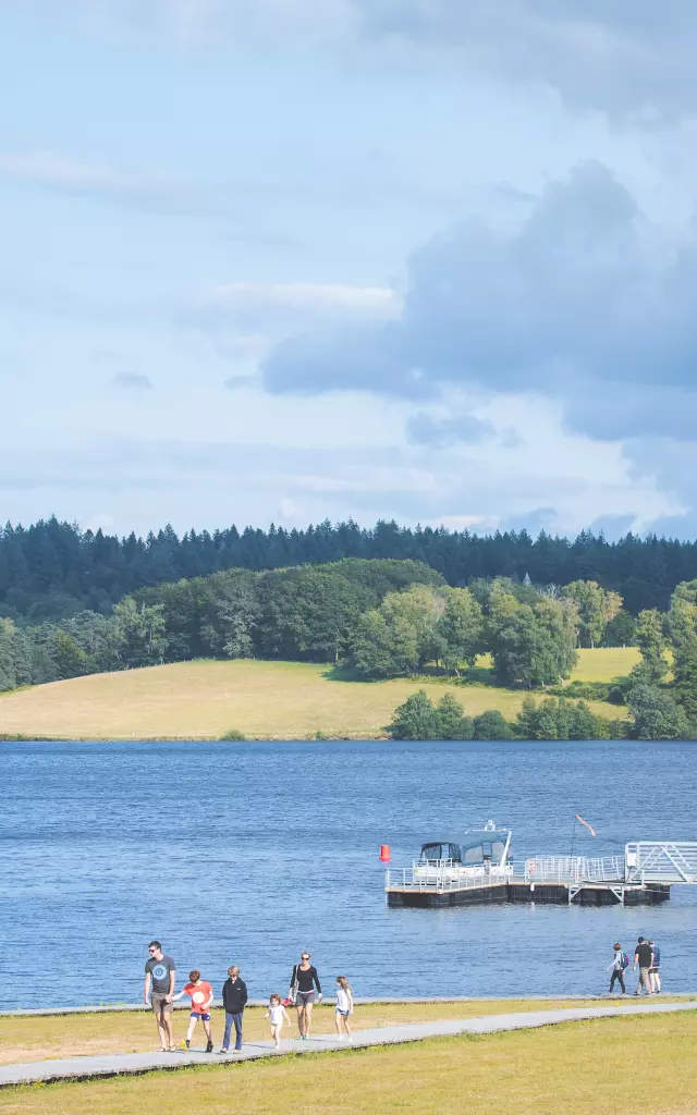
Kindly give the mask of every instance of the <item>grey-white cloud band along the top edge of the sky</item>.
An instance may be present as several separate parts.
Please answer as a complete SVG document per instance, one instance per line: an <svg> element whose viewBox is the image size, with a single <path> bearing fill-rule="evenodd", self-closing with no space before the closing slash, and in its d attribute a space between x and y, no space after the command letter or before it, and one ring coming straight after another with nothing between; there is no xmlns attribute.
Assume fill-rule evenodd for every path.
<svg viewBox="0 0 697 1115"><path fill-rule="evenodd" d="M75 2L75 0L74 0ZM94 0L77 0L90 11ZM689 115L697 108L694 0L100 0L105 26L183 48L250 38L287 45L408 48L456 72L546 86L573 106L613 115Z"/></svg>

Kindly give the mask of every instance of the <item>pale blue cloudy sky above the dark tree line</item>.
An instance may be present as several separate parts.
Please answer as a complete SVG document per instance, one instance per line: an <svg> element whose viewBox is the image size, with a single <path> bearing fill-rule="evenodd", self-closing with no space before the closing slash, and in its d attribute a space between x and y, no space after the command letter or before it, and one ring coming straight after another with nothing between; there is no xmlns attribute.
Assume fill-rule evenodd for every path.
<svg viewBox="0 0 697 1115"><path fill-rule="evenodd" d="M0 520L697 535L694 0L0 0Z"/></svg>

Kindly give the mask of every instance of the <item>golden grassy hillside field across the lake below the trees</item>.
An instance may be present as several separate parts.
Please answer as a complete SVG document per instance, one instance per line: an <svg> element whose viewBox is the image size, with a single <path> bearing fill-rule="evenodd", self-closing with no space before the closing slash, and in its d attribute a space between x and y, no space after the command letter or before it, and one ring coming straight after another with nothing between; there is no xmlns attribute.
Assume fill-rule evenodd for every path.
<svg viewBox="0 0 697 1115"><path fill-rule="evenodd" d="M639 652L582 650L574 679L609 681L628 673ZM327 666L300 662L196 661L54 681L0 696L0 735L51 739L217 739L238 729L256 739L374 737L415 689L439 699L454 692L471 716L487 708L512 719L525 694L482 682L352 681ZM602 716L621 709L589 702Z"/></svg>

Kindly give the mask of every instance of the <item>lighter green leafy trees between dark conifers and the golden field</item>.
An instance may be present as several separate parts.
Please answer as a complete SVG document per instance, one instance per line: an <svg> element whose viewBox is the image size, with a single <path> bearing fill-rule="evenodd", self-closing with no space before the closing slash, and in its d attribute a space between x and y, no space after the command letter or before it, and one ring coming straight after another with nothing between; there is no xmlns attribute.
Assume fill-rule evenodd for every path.
<svg viewBox="0 0 697 1115"><path fill-rule="evenodd" d="M608 643L639 647L632 673L613 685L564 688L577 649ZM689 735L697 724L697 580L678 584L665 612L643 609L635 618L618 592L591 580L560 586L535 585L529 575L475 578L457 588L423 562L357 558L233 569L141 588L109 614L83 609L35 624L1 619L0 691L197 658L326 662L347 678L435 672L466 681L482 655L491 657L497 686L548 691L535 712L545 730L552 714L554 730L577 730L572 697L627 705L647 738ZM534 733L533 711L526 729ZM452 723L451 709L448 730Z"/></svg>

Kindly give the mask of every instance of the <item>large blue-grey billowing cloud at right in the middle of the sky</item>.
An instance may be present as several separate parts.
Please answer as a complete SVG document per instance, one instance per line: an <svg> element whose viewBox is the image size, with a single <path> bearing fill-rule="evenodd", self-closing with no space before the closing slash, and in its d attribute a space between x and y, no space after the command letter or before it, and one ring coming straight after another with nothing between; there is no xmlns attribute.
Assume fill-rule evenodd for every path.
<svg viewBox="0 0 697 1115"><path fill-rule="evenodd" d="M274 392L539 392L591 435L650 421L691 437L696 292L694 232L651 226L604 165L584 163L520 226L469 222L417 250L398 320L288 340L262 377Z"/></svg>

